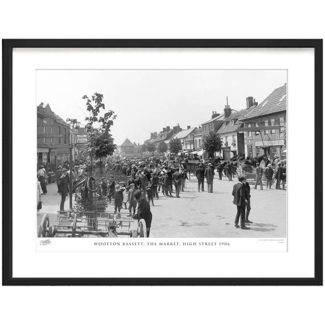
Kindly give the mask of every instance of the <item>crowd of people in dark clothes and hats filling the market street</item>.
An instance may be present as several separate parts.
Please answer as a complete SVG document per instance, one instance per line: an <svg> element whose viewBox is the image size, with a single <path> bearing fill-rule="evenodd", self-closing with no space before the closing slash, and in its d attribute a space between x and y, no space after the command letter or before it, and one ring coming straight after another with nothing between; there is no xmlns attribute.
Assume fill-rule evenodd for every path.
<svg viewBox="0 0 325 325"><path fill-rule="evenodd" d="M182 160L188 161L189 157L182 157ZM263 179L265 177L267 188L271 189L272 183L276 180L276 189L282 188L286 182L286 162L276 161L275 170L271 164L263 169L259 163L255 168L255 189L259 184L263 189ZM222 166L220 161L209 158L204 163L198 159L196 177L198 182L198 191L205 190L205 181L207 192L213 193L213 181L215 170L218 173L219 180L222 180L222 172L232 181L234 167L230 162ZM107 198L111 203L114 200L114 212L120 213L121 209L126 209L135 218L144 218L147 225L147 235L150 233L152 214L150 206L154 206L154 201L159 200L159 196L164 198L180 198L180 193L186 188L188 179L187 171L183 168L181 159L179 161L169 161L161 157L134 157L118 158L109 157L101 168L105 169L105 177L102 177L100 183L100 195ZM89 164L76 161L73 164L72 173L70 166L66 161L62 166L57 167L55 174L57 192L61 195L60 210L64 211L64 202L69 194L70 178L72 182L78 182L89 174ZM124 175L126 181L115 180L114 172ZM70 173L72 175L70 175ZM46 194L46 170L40 166L38 172L38 208L41 202L41 194ZM237 205L237 214L235 226L241 229L248 229L245 223L251 223L248 219L250 211L250 186L245 175L238 177L239 183L234 185L233 203ZM173 195L174 194L174 195ZM241 218L240 226L239 218Z"/></svg>

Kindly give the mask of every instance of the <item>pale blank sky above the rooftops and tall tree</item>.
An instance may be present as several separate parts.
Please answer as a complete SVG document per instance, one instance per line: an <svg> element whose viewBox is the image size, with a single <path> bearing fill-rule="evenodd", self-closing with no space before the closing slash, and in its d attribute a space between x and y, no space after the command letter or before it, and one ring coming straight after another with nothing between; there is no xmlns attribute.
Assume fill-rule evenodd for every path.
<svg viewBox="0 0 325 325"><path fill-rule="evenodd" d="M115 144L125 138L142 144L166 126L199 127L212 111L223 113L226 96L241 110L246 97L261 103L286 82L286 70L38 70L36 97L63 120L85 124L82 96L102 93L106 110L117 115Z"/></svg>

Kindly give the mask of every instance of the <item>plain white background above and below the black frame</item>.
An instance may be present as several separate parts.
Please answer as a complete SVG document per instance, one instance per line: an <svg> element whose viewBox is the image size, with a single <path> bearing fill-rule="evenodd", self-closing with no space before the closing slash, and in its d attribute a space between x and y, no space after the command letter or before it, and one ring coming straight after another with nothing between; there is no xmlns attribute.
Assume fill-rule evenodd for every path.
<svg viewBox="0 0 325 325"><path fill-rule="evenodd" d="M34 4L2 6L2 38L324 37L323 10L316 1ZM323 300L323 287L5 287L0 306L5 323L283 324L321 321Z"/></svg>

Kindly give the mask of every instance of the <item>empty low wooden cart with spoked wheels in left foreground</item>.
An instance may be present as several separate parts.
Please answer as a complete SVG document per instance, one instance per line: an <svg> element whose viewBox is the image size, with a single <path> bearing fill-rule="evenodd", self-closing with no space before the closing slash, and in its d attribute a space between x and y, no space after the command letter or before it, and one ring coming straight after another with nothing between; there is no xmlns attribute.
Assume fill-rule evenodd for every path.
<svg viewBox="0 0 325 325"><path fill-rule="evenodd" d="M57 223L48 214L40 223L38 237L147 237L146 222L131 213L58 211Z"/></svg>

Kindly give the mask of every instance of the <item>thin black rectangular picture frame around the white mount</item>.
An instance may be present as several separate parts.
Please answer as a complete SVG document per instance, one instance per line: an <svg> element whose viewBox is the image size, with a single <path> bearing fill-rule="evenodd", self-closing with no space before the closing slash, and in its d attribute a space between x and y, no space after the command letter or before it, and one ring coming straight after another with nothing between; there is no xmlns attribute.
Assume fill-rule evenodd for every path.
<svg viewBox="0 0 325 325"><path fill-rule="evenodd" d="M3 285L322 285L322 169L316 156L314 277L311 278L13 278L12 51L13 48L313 48L315 148L322 155L322 40L320 39L14 39L3 40ZM316 152L316 151L315 151ZM6 158L4 158L6 157Z"/></svg>

